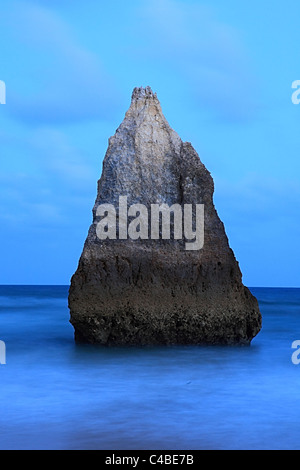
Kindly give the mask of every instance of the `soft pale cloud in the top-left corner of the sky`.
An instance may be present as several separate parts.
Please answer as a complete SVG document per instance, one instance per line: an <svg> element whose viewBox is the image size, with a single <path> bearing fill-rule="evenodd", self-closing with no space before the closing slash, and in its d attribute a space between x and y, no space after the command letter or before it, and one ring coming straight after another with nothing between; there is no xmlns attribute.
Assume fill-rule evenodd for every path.
<svg viewBox="0 0 300 470"><path fill-rule="evenodd" d="M50 8L13 6L4 14L23 54L11 61L14 73L23 74L22 89L10 90L13 116L39 123L107 118L117 106L117 91L101 58Z"/></svg>

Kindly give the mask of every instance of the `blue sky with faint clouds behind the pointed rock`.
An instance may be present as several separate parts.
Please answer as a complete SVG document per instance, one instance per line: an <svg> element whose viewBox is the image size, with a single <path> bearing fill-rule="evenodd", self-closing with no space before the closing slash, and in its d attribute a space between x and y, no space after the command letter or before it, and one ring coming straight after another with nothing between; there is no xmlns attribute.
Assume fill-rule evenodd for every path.
<svg viewBox="0 0 300 470"><path fill-rule="evenodd" d="M215 181L248 286L299 287L292 1L1 0L1 284L69 284L135 86Z"/></svg>

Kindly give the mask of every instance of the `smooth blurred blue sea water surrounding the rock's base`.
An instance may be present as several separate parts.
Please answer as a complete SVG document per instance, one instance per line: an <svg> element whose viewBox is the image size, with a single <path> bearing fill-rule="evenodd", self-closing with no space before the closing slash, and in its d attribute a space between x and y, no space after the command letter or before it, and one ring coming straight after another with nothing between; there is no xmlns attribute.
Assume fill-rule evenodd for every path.
<svg viewBox="0 0 300 470"><path fill-rule="evenodd" d="M300 449L300 289L250 347L76 345L68 286L0 286L0 449Z"/></svg>

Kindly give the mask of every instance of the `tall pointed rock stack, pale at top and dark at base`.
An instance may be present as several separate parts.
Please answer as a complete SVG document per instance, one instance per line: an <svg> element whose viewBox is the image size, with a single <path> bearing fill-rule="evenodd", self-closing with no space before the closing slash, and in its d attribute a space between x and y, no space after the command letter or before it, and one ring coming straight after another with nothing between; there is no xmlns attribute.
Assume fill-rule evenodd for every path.
<svg viewBox="0 0 300 470"><path fill-rule="evenodd" d="M249 344L260 331L258 303L243 285L213 204L212 177L182 142L149 87L135 88L109 146L93 223L69 291L75 340L106 345ZM100 240L97 208L204 204L204 245L127 238ZM118 218L117 210L117 218ZM129 217L130 221L130 217ZM149 215L150 227L150 215ZM171 230L172 233L172 230Z"/></svg>

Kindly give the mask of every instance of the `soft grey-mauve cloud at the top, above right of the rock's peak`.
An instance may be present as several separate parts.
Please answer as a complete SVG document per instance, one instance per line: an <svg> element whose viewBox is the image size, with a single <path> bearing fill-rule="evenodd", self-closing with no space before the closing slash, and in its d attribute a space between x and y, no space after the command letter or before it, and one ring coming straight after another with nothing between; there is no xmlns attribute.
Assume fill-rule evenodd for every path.
<svg viewBox="0 0 300 470"><path fill-rule="evenodd" d="M198 106L225 120L256 114L258 84L240 31L212 8L183 1L147 2L141 18L152 37L151 47L145 41L145 55L182 76Z"/></svg>

